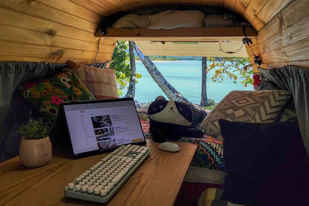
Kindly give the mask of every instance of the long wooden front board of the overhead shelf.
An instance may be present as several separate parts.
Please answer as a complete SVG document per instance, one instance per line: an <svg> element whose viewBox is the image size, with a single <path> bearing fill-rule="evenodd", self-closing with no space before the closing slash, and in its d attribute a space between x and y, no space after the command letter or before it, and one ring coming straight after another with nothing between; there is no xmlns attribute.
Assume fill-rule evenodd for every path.
<svg viewBox="0 0 309 206"><path fill-rule="evenodd" d="M245 28L249 38L256 37L257 32L252 27ZM130 41L211 41L211 40L239 40L245 35L243 27L216 27L216 28L177 28L177 29L107 29L106 34L95 34L96 37L105 37L116 40Z"/></svg>

